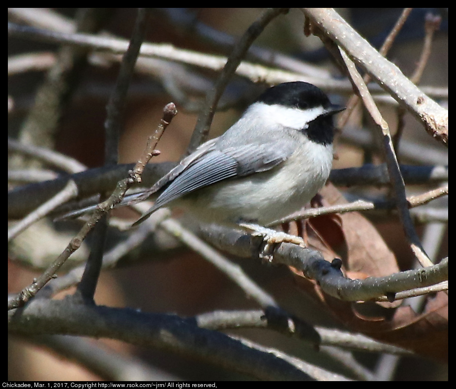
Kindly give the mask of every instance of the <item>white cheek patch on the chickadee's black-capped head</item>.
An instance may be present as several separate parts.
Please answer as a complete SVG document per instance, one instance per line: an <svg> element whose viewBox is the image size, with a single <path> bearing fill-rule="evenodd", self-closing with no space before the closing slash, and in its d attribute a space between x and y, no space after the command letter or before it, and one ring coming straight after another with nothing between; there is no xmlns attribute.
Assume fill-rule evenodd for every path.
<svg viewBox="0 0 456 389"><path fill-rule="evenodd" d="M267 120L270 124L281 124L297 130L307 128L307 124L315 120L326 110L322 106L301 110L274 104L267 105L257 102L249 108L249 113Z"/></svg>

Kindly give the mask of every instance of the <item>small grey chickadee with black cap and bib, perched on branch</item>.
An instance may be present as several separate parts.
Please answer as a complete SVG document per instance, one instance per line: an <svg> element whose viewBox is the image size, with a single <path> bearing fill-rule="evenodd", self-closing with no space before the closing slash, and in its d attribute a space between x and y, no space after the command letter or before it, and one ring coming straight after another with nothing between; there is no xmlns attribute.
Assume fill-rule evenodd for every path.
<svg viewBox="0 0 456 389"><path fill-rule="evenodd" d="M199 221L267 226L301 209L321 189L333 161L332 104L314 85L289 82L266 90L223 135L183 158L151 189L121 204L185 209Z"/></svg>

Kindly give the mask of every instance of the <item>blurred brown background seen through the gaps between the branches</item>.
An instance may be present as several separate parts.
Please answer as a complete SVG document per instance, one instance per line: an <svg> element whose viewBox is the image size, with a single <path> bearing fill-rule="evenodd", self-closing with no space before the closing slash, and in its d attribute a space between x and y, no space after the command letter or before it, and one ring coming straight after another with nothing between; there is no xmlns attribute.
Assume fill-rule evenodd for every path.
<svg viewBox="0 0 456 389"><path fill-rule="evenodd" d="M261 8L153 8L150 11L145 41L169 43L180 49L227 56L232 42L243 34L261 10ZM29 9L29 14L26 14L21 9L9 9L8 20L42 29L52 29L52 22L45 18L46 15L51 15L61 21L60 28L64 30L70 29L79 11L76 8L40 8ZM338 8L337 11L378 48L394 26L402 8ZM424 20L429 12L440 15L442 23L440 30L433 37L432 54L426 64L420 85L446 88L448 86L447 8L415 8L396 38L388 58L399 66L405 75L413 74L422 52L425 37ZM101 30L129 39L136 14L135 8L111 9L106 13ZM280 66L296 72L302 71L300 64L305 62L314 69L315 74L321 72L323 75L329 74L335 78L342 78L330 55L322 47L321 41L315 36L305 37L303 26L304 16L297 9L291 9L286 15L280 15L254 42L255 48L251 50L252 53L246 60L268 67ZM43 55L41 65L33 70L11 72L9 69L8 137L18 137L30 107L34 103L36 90L42 85L46 71L53 63L53 55L58 50L57 44L16 37L8 38L9 59L26 53L48 55L48 58ZM268 61L271 56L269 58L265 56L263 59L258 57L259 53L264 54L264 52L279 53L286 56L286 60L278 59L278 63L271 64ZM102 56L90 56L89 63L78 75L74 90L71 91L71 98L59 120L55 149L79 160L89 168L103 164L106 104L118 70L118 60L103 60ZM161 138L158 145L161 154L153 162L178 161L188 146L199 107L216 75L217 72L207 68L158 59L143 63L141 69L138 67L129 88L124 129L121 135L120 162L137 160L138 155L144 150L147 137L161 118L164 105L170 101L176 103L179 113ZM215 114L210 137L223 133L239 118L246 105L265 87L264 83L254 84L245 77L234 76L220 101L219 106L222 110ZM348 93L333 92L331 100L343 104L348 97ZM438 98L436 100L439 101ZM439 102L445 104L443 101ZM389 121L390 128L395 129L396 108L388 104L381 108L382 114ZM448 150L433 141L414 118L406 114L404 123L401 147L403 146L405 150L402 154L399 152L401 163L448 164ZM354 120L348 127L354 128L360 125L368 131L370 124ZM338 137L336 153L338 159L334 160L335 169L381 161L378 150L364 147L363 142L353 135L353 131L348 131L346 134L344 131ZM10 166L8 166L9 169ZM422 189L421 187L408 188L411 193ZM359 188L352 190L360 191ZM366 195L374 196L377 191L383 189L363 190L366 191ZM346 193L349 195L350 190L347 189ZM388 218L378 218L374 221L378 231L400 261L399 266L403 269L409 268L413 257L405 239L397 239L398 234L402 234L400 224L396 219L392 221ZM441 244L435 253L436 258L448 255L447 227L444 223L439 225L443 233L441 232L438 238ZM43 228L40 225L34 230L34 234L43 232ZM423 234L423 227L419 227L419 231ZM19 236L16 239L13 243L14 247L10 247L9 252L8 293L21 290L33 277L40 274L46 261L54 260L53 255L58 255L68 242L66 237L70 237L69 232L68 235L66 231L61 234L61 239L52 244L45 243L45 240L41 240L44 239L41 236L36 238L41 240L41 245L34 245L32 250L33 256L42 261L39 266L37 263L27 263L26 246L30 238L20 240L21 236ZM114 235L115 238L112 238L113 241L108 242L108 245L114 244L114 239L118 239L118 235ZM49 250L50 245L53 246L52 254ZM81 256L83 255L84 252ZM260 261L236 258L233 258L233 261L241 265L249 276L262 285L288 311L313 324L338 326L328 313L296 289L288 269L264 266ZM66 291L66 293L72 292L73 289ZM59 298L63 296L64 293L59 295ZM95 302L115 307L128 306L148 312L176 313L181 316L192 316L217 309L258 307L223 273L198 255L179 247L173 250L172 255L166 253L151 255L147 258L139 258L134 265L103 271ZM337 363L308 345L303 346L295 339L276 332L242 329L233 333L266 346L278 347L298 358L320 364L335 372L346 373ZM89 339L89 341L101 345L102 348L115 350L125 358L141 361L147 369L156 374L156 380L251 379L212 365L179 357L173 353L135 347L114 340ZM37 340L9 337L8 379L19 381L104 379L73 361L70 355L65 356L65 353L56 350L57 348L43 346ZM373 368L378 361L378 356L370 354L360 354L357 358L370 368ZM396 367L394 379L397 381L446 380L447 366L424 359L402 358Z"/></svg>

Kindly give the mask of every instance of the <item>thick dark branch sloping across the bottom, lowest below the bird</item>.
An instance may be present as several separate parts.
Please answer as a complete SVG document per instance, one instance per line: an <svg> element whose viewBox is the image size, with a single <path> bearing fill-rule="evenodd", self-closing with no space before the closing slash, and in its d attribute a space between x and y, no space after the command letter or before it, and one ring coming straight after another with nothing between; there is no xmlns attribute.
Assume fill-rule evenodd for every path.
<svg viewBox="0 0 456 389"><path fill-rule="evenodd" d="M259 350L221 332L200 329L192 318L172 314L35 299L21 315L11 312L8 322L9 331L16 333L106 337L171 350L261 380L310 379L296 363L271 350Z"/></svg>

